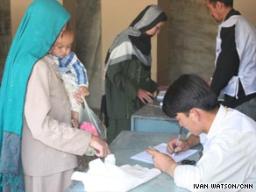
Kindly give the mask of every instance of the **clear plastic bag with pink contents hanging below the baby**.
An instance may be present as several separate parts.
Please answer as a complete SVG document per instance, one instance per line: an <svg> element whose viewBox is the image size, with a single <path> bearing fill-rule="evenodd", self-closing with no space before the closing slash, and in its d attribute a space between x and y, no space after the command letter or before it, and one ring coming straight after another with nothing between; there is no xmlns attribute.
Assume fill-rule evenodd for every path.
<svg viewBox="0 0 256 192"><path fill-rule="evenodd" d="M98 136L99 138L106 140L107 139L107 128L103 122L97 117L95 112L89 108L88 103L84 98L83 108L79 111L79 123L80 128L91 132L92 134Z"/></svg>

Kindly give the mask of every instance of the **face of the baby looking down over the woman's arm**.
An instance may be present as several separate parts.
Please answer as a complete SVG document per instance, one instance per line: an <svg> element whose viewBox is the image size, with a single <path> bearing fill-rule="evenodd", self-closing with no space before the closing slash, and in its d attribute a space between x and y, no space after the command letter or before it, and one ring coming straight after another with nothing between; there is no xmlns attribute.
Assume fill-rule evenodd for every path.
<svg viewBox="0 0 256 192"><path fill-rule="evenodd" d="M53 55L63 58L71 52L71 45L74 37L69 33L64 33L63 37L59 37L53 46Z"/></svg>

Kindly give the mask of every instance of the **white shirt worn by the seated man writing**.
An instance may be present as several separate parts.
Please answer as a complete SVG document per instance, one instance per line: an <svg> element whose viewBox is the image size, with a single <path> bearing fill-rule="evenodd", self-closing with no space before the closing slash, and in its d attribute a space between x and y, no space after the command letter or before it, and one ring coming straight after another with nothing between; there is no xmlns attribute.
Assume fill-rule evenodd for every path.
<svg viewBox="0 0 256 192"><path fill-rule="evenodd" d="M204 141L203 156L196 166L175 168L177 186L214 191L197 190L194 184L250 183L252 190L228 191L256 191L256 123L251 118L221 106Z"/></svg>

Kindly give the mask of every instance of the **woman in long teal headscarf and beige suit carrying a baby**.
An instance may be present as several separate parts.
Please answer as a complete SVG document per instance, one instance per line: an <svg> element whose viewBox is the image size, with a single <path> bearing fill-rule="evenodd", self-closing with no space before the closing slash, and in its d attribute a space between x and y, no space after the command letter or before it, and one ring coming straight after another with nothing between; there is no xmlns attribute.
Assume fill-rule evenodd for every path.
<svg viewBox="0 0 256 192"><path fill-rule="evenodd" d="M0 89L0 191L64 191L88 146L108 145L71 126L68 94L47 54L70 16L56 0L34 0L13 39ZM79 100L80 93L76 93Z"/></svg>

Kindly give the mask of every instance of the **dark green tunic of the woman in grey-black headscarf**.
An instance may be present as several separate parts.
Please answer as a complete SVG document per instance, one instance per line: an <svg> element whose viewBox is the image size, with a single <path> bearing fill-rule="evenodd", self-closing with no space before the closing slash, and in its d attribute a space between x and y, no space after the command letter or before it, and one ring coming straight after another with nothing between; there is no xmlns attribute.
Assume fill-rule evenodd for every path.
<svg viewBox="0 0 256 192"><path fill-rule="evenodd" d="M137 96L138 89L153 93L157 83L150 77L151 70L139 60L124 60L110 65L106 73L105 93L109 116L108 142L122 130L131 129L131 115L143 103Z"/></svg>

